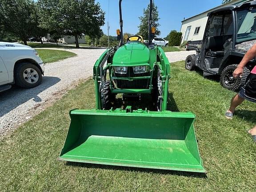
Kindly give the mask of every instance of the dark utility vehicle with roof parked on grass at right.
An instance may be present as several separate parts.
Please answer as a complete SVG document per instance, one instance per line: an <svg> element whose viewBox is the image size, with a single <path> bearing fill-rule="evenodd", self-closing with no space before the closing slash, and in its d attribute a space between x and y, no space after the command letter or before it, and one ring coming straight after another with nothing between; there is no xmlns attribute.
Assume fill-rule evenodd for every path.
<svg viewBox="0 0 256 192"><path fill-rule="evenodd" d="M231 5L208 13L208 22L196 55L186 58L185 68L200 68L204 76L219 75L220 84L238 91L256 61L251 60L241 77L232 75L244 54L256 43L256 1ZM192 43L191 43L192 44ZM191 50L193 45L188 44Z"/></svg>

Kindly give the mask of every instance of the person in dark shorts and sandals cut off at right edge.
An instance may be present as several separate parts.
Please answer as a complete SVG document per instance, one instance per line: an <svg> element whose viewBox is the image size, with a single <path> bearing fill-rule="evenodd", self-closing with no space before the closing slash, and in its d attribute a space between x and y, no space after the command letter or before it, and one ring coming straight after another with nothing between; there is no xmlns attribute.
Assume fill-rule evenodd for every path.
<svg viewBox="0 0 256 192"><path fill-rule="evenodd" d="M256 44L244 55L240 64L237 66L236 70L233 72L234 78L242 76L244 66L256 56ZM230 107L225 113L227 119L232 119L236 107L243 103L244 100L249 100L256 103L256 66L252 69L250 75L248 76L247 84L240 89L240 92L236 94L231 100ZM256 118L256 117L255 117ZM252 136L254 142L256 142L256 126L248 131Z"/></svg>

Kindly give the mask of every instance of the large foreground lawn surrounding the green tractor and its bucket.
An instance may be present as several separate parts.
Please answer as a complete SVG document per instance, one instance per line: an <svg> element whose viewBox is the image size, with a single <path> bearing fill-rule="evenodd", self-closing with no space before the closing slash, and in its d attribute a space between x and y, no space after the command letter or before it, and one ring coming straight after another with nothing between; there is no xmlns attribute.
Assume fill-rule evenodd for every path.
<svg viewBox="0 0 256 192"><path fill-rule="evenodd" d="M57 161L70 123L69 110L95 107L94 84L88 80L0 141L1 191L255 191L256 144L247 134L256 124L255 104L244 102L235 118L226 120L224 112L234 92L186 71L184 62L172 64L171 70L168 109L196 114L207 176Z"/></svg>

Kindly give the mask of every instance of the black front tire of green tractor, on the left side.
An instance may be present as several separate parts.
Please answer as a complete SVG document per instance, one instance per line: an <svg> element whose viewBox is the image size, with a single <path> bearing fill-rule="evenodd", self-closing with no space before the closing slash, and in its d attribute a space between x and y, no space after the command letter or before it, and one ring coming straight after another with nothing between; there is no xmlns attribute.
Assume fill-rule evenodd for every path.
<svg viewBox="0 0 256 192"><path fill-rule="evenodd" d="M101 102L103 109L110 109L112 107L112 103L116 100L116 95L111 93L110 82L107 81L101 90Z"/></svg>

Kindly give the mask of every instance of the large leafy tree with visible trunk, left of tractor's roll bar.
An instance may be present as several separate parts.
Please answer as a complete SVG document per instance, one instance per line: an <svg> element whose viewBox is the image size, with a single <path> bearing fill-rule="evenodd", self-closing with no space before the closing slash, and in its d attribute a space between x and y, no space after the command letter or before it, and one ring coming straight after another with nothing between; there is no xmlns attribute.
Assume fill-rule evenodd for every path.
<svg viewBox="0 0 256 192"><path fill-rule="evenodd" d="M105 13L95 0L39 0L41 26L49 31L60 30L61 35L78 37L82 34L91 38L102 34Z"/></svg>

